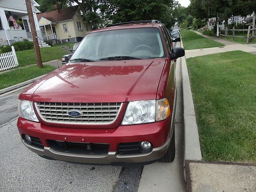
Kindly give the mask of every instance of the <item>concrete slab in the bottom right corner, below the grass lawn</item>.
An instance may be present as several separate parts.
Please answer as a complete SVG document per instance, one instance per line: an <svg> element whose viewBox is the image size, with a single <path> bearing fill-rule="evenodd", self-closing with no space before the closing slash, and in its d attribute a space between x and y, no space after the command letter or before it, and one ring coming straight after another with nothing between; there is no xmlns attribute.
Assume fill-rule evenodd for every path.
<svg viewBox="0 0 256 192"><path fill-rule="evenodd" d="M256 166L244 163L186 163L187 191L256 191Z"/></svg>

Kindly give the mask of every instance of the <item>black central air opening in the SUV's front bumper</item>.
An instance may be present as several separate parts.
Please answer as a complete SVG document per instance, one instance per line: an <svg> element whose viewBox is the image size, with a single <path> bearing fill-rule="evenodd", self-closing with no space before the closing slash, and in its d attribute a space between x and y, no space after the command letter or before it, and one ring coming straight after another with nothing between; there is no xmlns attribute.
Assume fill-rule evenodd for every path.
<svg viewBox="0 0 256 192"><path fill-rule="evenodd" d="M107 143L77 143L66 141L47 140L50 147L57 152L77 155L106 155L109 153Z"/></svg>

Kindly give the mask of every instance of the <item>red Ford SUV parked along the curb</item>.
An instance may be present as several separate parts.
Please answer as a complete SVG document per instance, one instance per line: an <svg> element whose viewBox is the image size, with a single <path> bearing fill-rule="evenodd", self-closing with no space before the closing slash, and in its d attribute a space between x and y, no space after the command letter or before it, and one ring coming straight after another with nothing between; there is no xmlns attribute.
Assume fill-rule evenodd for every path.
<svg viewBox="0 0 256 192"><path fill-rule="evenodd" d="M157 20L92 31L61 68L18 97L22 142L41 157L79 163L175 158L175 60Z"/></svg>

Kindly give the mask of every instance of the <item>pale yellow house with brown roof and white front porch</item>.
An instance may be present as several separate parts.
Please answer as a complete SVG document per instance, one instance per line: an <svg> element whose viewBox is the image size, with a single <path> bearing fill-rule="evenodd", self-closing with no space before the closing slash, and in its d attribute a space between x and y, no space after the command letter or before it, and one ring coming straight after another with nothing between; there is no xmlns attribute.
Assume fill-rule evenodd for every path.
<svg viewBox="0 0 256 192"><path fill-rule="evenodd" d="M91 26L84 23L79 6L57 9L52 12L37 14L41 36L44 40L58 42L77 42L91 31Z"/></svg>

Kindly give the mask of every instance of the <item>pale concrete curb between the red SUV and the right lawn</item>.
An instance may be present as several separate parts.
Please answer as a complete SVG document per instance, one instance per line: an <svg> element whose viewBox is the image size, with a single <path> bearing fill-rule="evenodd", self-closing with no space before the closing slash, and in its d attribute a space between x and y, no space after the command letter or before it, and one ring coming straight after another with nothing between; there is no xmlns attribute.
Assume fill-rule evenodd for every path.
<svg viewBox="0 0 256 192"><path fill-rule="evenodd" d="M181 47L183 42L181 40ZM202 160L201 147L185 57L181 58L184 121L184 161Z"/></svg>

